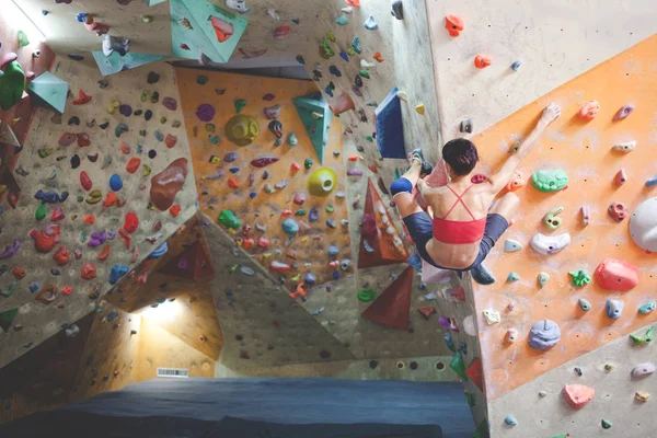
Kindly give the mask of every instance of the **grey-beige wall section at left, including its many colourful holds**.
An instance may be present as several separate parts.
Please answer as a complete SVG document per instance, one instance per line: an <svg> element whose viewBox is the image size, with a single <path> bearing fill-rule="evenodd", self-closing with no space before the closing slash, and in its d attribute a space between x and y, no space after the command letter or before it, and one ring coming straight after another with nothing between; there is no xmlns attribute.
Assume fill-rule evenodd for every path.
<svg viewBox="0 0 657 438"><path fill-rule="evenodd" d="M0 365L74 322L196 211L173 69L103 79L61 59L64 115L39 110L0 235Z"/></svg>

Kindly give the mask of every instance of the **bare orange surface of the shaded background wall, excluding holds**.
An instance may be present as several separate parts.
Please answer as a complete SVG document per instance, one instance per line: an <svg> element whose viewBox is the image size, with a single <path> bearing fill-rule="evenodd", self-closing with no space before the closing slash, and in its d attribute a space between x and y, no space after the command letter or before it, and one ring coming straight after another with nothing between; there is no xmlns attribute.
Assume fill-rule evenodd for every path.
<svg viewBox="0 0 657 438"><path fill-rule="evenodd" d="M199 76L205 76L208 81L205 84L198 83ZM337 260L351 258L348 228L341 224L343 219L348 219L346 199L336 196L338 192L346 192L346 158L342 154L342 131L341 124L336 117L333 117L328 141L324 151L324 168L331 168L337 175L335 189L327 197L313 197L307 191L309 175L322 168L316 158L310 138L297 114L292 99L308 93L316 92L316 85L311 81L274 79L253 77L244 74L233 74L223 72L210 72L193 69L176 69L176 77L183 111L185 114L185 127L189 139L189 149L194 160L194 172L196 174L196 184L199 195L200 209L212 219L217 219L221 210L232 210L242 226L253 227L251 238L255 241L264 237L269 241L267 249L261 249L254 245L246 250L254 254L256 260L268 269L270 262L278 261L288 265L297 264L298 269L292 269L287 274L286 286L295 290L297 284L302 281L303 274L311 272L316 276L316 284L321 285L333 280L333 273L339 272L341 276L347 274L342 269L334 269L327 266L331 258L326 254L328 245L337 245L339 254ZM221 94L222 93L222 94ZM275 100L265 101L263 96L272 93ZM240 114L253 116L260 125L260 134L252 145L239 147L228 140L224 134L226 123L237 113L235 101L245 100L246 106ZM196 116L196 110L201 104L211 104L215 110L215 116L209 124L215 125L215 135L219 136L218 143L210 142L210 132L206 129L206 122L201 122ZM264 115L264 107L279 104L281 106L278 120L283 123L281 145L276 147L275 136L269 131L268 120ZM195 134L196 132L196 134ZM297 146L290 146L287 137L295 132L298 138ZM216 141L216 140L215 140ZM338 157L334 151L341 152ZM210 158L216 155L223 159L227 153L235 152L238 158L234 162L211 163ZM269 164L262 169L256 169L250 164L253 159L263 155L274 155L279 159L278 162ZM314 164L310 170L303 166L304 160L311 159ZM301 169L292 171L291 163L298 163ZM235 174L230 172L231 168L239 168ZM204 178L216 174L222 170L224 175L216 178ZM263 181L264 171L269 171L268 180ZM249 175L254 173L253 186L249 186ZM232 189L228 185L228 180L235 177L241 186ZM264 189L265 184L273 186L285 180L289 180L289 185L283 189L277 189L274 194L267 194ZM250 198L250 193L256 194L255 198ZM299 206L292 203L296 193L304 193L307 200ZM365 199L362 199L362 203ZM332 205L333 212L326 211L326 206ZM308 214L315 207L319 211L319 220L310 222ZM306 216L295 216L291 218L297 222L306 221L310 230L303 235L289 237L283 232L281 223L283 211L290 209L292 214L306 209ZM333 220L336 229L326 226L326 219ZM257 231L255 223L267 227L263 233ZM244 238L242 230L237 230L233 234L235 241ZM289 240L289 241L288 241ZM288 254L296 253L296 260ZM267 256L268 254L268 256ZM272 273L279 277L281 274ZM301 274L299 281L292 280L295 276ZM217 273L217 275L222 275Z"/></svg>

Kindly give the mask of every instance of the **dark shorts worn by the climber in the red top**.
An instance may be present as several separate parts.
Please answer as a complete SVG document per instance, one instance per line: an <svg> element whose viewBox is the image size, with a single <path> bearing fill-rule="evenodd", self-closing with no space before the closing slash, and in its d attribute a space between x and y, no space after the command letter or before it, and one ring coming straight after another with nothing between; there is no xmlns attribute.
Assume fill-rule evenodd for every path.
<svg viewBox="0 0 657 438"><path fill-rule="evenodd" d="M496 212L492 212L486 216L486 228L484 229L484 237L480 242L480 253L469 267L465 269L451 269L449 267L443 267L437 265L433 260L429 253L427 252L427 243L434 238L434 221L426 214L426 211L414 212L411 216L404 218L404 224L408 230L408 234L411 234L411 239L415 243L417 252L419 256L427 262L429 265L436 266L440 269L450 269L458 272L470 270L484 262L484 258L488 255L493 246L495 246L495 242L499 240L502 234L509 228L509 222L504 218L504 216L498 215Z"/></svg>

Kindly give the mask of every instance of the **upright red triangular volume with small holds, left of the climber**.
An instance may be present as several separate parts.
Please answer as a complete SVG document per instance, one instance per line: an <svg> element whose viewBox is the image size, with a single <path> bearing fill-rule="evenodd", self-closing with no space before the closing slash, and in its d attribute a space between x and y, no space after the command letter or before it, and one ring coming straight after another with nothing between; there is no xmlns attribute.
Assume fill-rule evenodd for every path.
<svg viewBox="0 0 657 438"><path fill-rule="evenodd" d="M393 229L394 233L388 234L387 229ZM407 260L408 251L404 246L379 192L374 188L372 181L368 180L358 250L358 267L393 265Z"/></svg>

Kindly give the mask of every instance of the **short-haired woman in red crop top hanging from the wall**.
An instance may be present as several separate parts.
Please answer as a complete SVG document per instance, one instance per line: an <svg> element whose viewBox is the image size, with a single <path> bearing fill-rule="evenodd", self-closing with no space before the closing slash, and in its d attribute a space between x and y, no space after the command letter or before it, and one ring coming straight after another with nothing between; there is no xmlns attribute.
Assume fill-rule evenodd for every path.
<svg viewBox="0 0 657 438"><path fill-rule="evenodd" d="M429 187L424 182L431 165L424 161L419 150L411 152L411 169L390 188L422 258L439 268L458 273L470 270L472 278L481 285L495 281L482 262L509 227L520 204L518 196L510 192L495 198L514 177L514 172L534 148L541 134L560 115L558 105L548 105L516 153L481 184L473 182L479 153L470 140L458 138L442 148L450 176L449 184L442 187ZM413 187L417 187L426 199L427 211L415 200Z"/></svg>

